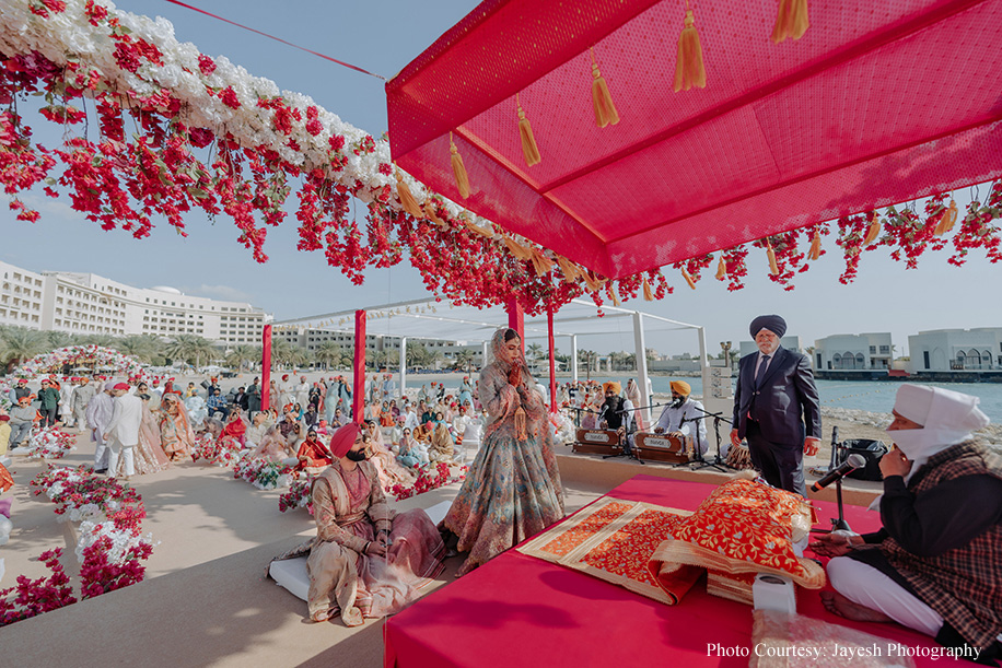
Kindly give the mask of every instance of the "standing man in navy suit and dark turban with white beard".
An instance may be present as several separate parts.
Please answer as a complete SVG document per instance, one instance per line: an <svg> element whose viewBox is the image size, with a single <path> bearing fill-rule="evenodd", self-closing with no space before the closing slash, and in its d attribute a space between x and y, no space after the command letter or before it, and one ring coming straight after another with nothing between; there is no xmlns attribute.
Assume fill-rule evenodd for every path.
<svg viewBox="0 0 1002 668"><path fill-rule="evenodd" d="M752 465L769 484L806 496L803 457L816 455L822 438L811 362L779 344L787 333L781 317L758 316L750 331L759 352L738 365L731 443L747 440Z"/></svg>

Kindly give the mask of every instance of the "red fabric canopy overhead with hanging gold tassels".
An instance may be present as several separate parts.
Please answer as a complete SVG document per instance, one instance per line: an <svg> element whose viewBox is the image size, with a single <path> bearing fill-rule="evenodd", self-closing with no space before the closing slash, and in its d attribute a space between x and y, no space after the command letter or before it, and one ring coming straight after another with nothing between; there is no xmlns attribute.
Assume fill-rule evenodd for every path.
<svg viewBox="0 0 1002 668"><path fill-rule="evenodd" d="M1002 0L813 2L773 44L777 7L694 4L707 87L675 93L684 0L488 0L386 84L394 159L609 278L1002 176Z"/></svg>

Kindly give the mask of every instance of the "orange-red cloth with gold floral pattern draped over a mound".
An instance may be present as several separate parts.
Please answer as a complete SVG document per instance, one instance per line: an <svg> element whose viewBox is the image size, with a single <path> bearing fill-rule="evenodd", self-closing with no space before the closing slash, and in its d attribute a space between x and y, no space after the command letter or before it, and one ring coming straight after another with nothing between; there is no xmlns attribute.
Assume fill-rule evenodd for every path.
<svg viewBox="0 0 1002 668"><path fill-rule="evenodd" d="M793 527L803 526L805 514L811 516L809 506L797 494L750 480L732 480L679 521L672 536L746 565L804 576L804 565L793 552ZM806 524L809 527L809 519Z"/></svg>

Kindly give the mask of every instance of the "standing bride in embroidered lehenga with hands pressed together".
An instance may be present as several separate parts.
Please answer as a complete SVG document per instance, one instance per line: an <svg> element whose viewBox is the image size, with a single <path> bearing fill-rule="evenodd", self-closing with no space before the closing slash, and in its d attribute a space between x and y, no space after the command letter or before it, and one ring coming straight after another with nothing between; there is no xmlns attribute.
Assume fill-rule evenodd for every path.
<svg viewBox="0 0 1002 668"><path fill-rule="evenodd" d="M563 518L563 487L543 397L521 360L519 387L509 380L504 360L508 329L491 339L492 360L480 373L480 401L489 423L459 494L442 526L469 552L458 575ZM524 427L519 409L524 411Z"/></svg>

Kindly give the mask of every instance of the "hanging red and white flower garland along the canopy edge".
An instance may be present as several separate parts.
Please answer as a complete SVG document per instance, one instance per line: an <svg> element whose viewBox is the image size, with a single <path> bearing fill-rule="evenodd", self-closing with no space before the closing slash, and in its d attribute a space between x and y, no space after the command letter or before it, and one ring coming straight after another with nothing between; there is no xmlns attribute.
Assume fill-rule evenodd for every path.
<svg viewBox="0 0 1002 668"><path fill-rule="evenodd" d="M150 236L155 216L187 235L185 214L201 210L232 219L237 241L264 262L268 228L284 222L294 194L298 248L323 253L357 284L369 268L406 257L426 288L442 297L493 306L514 295L531 315L583 294L599 307L605 298L637 298L645 278L651 295L671 292L661 272L609 281L494 228L409 175L400 173L398 180L385 136L374 139L308 96L279 91L224 57L180 44L173 31L164 19L96 0L0 7L0 105L7 105L0 112L0 184L19 220L39 219L21 199L35 188L68 197L103 230L121 228L136 238ZM33 141L19 112L30 95L44 102L44 119L63 127L61 145ZM888 209L883 237L866 246L888 246L913 267L927 246L947 243L934 234L941 204L933 202L924 218L913 208ZM975 248L998 261L998 219L991 198L968 208L952 233L951 261L962 263ZM804 254L795 251L796 234L777 236L770 237L779 269L772 280L789 290L793 274L806 267ZM851 280L858 244L844 241L843 279ZM743 286L747 248L760 245L723 250L725 271L718 278L729 281L729 290ZM695 285L694 269L706 268L704 259L676 268Z"/></svg>

